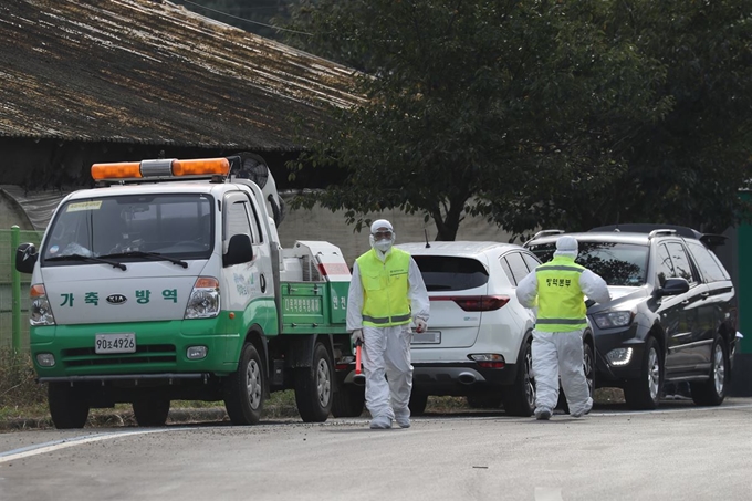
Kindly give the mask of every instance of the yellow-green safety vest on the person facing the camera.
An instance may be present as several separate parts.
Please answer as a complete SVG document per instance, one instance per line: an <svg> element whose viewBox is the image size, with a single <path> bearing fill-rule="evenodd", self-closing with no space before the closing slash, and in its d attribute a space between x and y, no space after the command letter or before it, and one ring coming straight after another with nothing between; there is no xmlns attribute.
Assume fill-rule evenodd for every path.
<svg viewBox="0 0 752 501"><path fill-rule="evenodd" d="M409 323L407 275L410 254L391 248L386 261L382 262L372 249L356 261L363 283L363 325L389 327Z"/></svg>

